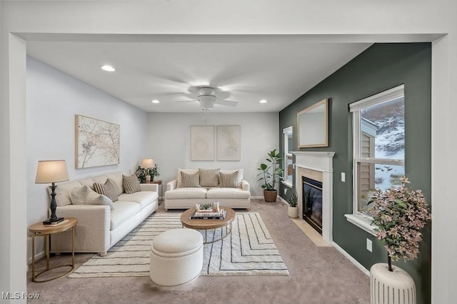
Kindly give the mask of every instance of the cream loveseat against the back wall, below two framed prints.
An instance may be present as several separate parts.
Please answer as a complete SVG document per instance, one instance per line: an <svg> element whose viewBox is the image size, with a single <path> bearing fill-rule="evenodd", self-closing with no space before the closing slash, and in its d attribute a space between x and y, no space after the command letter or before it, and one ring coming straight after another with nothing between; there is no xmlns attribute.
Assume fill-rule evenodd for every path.
<svg viewBox="0 0 457 304"><path fill-rule="evenodd" d="M215 171L221 174L237 172L236 185L227 188L221 186L219 181L209 183L202 174L206 171ZM187 174L199 174L199 183L193 187L183 187L181 181L182 172ZM215 174L214 174L215 176ZM211 185L211 186L208 186ZM176 179L166 184L164 208L186 209L195 206L196 203L213 203L219 201L221 206L230 208L251 208L251 193L249 183L243 180L243 169L220 170L220 169L178 169Z"/></svg>

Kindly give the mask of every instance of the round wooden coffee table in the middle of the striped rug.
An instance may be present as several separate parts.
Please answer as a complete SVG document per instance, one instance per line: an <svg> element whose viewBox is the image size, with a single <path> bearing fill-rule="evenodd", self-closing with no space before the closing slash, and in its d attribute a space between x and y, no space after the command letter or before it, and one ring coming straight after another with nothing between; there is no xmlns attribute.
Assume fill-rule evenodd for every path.
<svg viewBox="0 0 457 304"><path fill-rule="evenodd" d="M205 240L204 240L205 244L217 242L218 240L222 240L223 238L225 238L227 235L229 235L231 233L231 222L233 222L233 220L235 219L235 211L232 208L221 206L221 209L224 209L226 211L226 218L224 220L220 220L220 219L193 220L193 219L191 219L191 215L192 215L192 213L194 213L195 208L190 208L190 209L184 211L183 214L181 214L181 223L183 224L183 227L196 229L196 230L205 230ZM225 234L224 234L224 227L226 228ZM209 242L208 241L208 230L217 229L217 228L223 228L221 230L221 238L218 238L216 240L211 240Z"/></svg>

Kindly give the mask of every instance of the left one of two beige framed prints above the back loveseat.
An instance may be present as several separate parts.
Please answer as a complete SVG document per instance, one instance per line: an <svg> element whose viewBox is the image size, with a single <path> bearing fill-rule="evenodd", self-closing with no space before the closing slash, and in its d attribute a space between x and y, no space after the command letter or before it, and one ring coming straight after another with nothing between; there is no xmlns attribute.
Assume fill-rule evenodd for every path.
<svg viewBox="0 0 457 304"><path fill-rule="evenodd" d="M191 161L214 161L214 126L191 126Z"/></svg>

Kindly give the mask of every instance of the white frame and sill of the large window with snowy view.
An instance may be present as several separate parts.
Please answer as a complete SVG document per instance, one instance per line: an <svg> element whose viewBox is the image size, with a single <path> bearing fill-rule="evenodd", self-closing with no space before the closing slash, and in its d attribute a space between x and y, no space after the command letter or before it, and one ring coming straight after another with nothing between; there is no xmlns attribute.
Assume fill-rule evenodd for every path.
<svg viewBox="0 0 457 304"><path fill-rule="evenodd" d="M373 218L358 211L358 164L359 163L376 163L385 164L392 166L403 166L405 167L405 159L386 159L386 158L374 158L361 157L361 110L374 106L376 104L391 101L396 98L404 97L404 84L390 88L381 93L377 93L373 96L363 98L360 101L356 101L349 104L349 111L352 113L352 135L353 135L353 155L352 155L352 188L353 188L353 210L352 213L346 214L346 219L354 225L366 230L368 233L375 235L371 221ZM405 138L406 139L406 138Z"/></svg>

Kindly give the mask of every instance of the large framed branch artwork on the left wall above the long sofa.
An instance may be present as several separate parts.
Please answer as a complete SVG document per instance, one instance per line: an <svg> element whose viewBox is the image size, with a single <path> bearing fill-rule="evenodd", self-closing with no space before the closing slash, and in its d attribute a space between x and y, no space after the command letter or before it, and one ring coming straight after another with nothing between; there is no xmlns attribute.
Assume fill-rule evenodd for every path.
<svg viewBox="0 0 457 304"><path fill-rule="evenodd" d="M119 164L120 137L116 123L76 115L76 169Z"/></svg>

